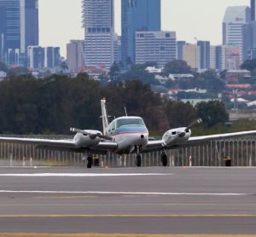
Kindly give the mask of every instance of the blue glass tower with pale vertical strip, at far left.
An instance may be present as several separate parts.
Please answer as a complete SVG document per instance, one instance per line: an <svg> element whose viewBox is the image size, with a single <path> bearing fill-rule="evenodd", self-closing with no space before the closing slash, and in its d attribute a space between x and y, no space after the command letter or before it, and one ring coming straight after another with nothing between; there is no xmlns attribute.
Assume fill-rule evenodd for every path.
<svg viewBox="0 0 256 237"><path fill-rule="evenodd" d="M0 0L0 60L8 63L9 49L26 55L38 44L38 0Z"/></svg>

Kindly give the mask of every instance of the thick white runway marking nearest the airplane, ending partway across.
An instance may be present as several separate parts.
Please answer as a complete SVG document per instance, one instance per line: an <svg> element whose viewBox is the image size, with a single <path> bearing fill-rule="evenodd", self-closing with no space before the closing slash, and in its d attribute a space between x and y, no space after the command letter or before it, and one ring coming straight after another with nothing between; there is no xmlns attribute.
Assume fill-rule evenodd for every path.
<svg viewBox="0 0 256 237"><path fill-rule="evenodd" d="M102 177L102 176L172 176L173 174L136 173L136 174L78 174L78 173L35 173L35 174L0 174L13 177Z"/></svg>

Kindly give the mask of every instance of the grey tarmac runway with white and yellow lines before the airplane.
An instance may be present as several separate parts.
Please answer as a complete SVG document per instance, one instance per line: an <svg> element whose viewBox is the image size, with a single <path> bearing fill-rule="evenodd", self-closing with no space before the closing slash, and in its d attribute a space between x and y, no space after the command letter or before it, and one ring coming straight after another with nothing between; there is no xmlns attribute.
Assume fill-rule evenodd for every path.
<svg viewBox="0 0 256 237"><path fill-rule="evenodd" d="M256 234L253 168L0 168L0 233Z"/></svg>

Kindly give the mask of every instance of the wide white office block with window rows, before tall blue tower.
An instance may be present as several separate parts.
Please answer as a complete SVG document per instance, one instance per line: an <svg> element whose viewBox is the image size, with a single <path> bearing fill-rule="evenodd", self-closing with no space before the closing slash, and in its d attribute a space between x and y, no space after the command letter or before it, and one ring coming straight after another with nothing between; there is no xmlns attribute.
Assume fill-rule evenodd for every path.
<svg viewBox="0 0 256 237"><path fill-rule="evenodd" d="M159 67L177 59L176 32L136 32L135 63L156 62Z"/></svg>

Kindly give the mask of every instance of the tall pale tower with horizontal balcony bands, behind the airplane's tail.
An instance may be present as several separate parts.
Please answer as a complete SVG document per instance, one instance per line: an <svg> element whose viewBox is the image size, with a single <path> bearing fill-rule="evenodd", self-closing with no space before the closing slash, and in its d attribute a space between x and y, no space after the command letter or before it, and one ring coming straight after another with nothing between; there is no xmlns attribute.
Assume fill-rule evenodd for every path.
<svg viewBox="0 0 256 237"><path fill-rule="evenodd" d="M83 0L84 65L106 66L114 61L113 0Z"/></svg>

